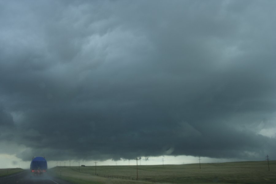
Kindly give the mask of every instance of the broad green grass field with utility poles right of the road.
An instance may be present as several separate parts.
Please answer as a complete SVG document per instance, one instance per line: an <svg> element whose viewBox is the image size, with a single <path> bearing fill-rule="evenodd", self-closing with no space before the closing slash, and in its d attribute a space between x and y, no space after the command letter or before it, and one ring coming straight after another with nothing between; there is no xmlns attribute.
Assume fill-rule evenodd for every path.
<svg viewBox="0 0 276 184"><path fill-rule="evenodd" d="M54 167L48 173L77 184L86 183L276 183L276 161L185 165ZM61 172L61 176L60 176ZM132 180L133 178L133 180Z"/></svg>

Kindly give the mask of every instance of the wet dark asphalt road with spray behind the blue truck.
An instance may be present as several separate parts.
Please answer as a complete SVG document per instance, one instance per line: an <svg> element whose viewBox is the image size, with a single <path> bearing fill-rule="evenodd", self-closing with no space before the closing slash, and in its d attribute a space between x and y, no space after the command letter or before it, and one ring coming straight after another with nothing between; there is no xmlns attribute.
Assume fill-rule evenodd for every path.
<svg viewBox="0 0 276 184"><path fill-rule="evenodd" d="M0 184L71 184L66 181L52 178L45 173L43 176L33 175L29 170L10 176L0 177Z"/></svg>

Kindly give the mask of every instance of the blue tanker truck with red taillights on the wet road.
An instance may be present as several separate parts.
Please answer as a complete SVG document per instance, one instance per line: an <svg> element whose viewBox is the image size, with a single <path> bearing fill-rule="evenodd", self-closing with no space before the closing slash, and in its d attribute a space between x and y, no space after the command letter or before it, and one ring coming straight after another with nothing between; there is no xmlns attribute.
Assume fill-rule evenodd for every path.
<svg viewBox="0 0 276 184"><path fill-rule="evenodd" d="M31 162L31 172L35 175L41 175L47 171L47 161L45 157L33 157Z"/></svg>

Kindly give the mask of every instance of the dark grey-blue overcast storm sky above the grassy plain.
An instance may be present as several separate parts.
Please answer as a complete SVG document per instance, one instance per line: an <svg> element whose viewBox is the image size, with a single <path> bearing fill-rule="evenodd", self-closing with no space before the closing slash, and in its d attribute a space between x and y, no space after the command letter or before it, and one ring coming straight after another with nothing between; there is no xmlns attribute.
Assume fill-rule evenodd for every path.
<svg viewBox="0 0 276 184"><path fill-rule="evenodd" d="M0 154L275 159L275 8L0 0Z"/></svg>

